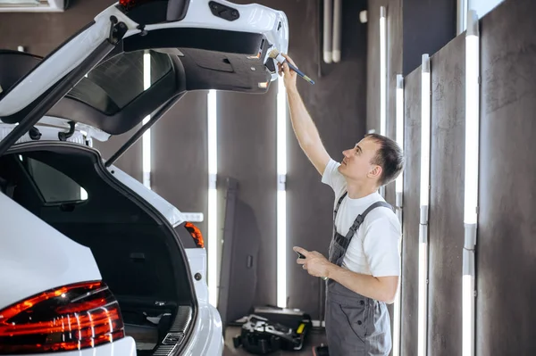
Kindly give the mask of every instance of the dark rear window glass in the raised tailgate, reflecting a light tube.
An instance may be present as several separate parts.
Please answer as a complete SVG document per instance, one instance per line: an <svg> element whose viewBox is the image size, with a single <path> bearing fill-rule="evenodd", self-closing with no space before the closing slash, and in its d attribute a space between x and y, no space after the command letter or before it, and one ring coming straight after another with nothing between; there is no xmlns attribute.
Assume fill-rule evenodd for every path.
<svg viewBox="0 0 536 356"><path fill-rule="evenodd" d="M148 78L144 78L144 65L150 68ZM67 96L106 115L113 115L171 70L168 54L155 51L122 53L97 65Z"/></svg>

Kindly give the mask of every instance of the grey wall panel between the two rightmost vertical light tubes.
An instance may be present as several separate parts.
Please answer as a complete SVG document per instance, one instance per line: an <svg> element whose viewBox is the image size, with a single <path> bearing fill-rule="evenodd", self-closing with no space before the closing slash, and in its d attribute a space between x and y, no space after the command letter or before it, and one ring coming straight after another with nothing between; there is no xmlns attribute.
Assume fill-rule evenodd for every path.
<svg viewBox="0 0 536 356"><path fill-rule="evenodd" d="M461 355L465 37L431 58L428 354Z"/></svg>

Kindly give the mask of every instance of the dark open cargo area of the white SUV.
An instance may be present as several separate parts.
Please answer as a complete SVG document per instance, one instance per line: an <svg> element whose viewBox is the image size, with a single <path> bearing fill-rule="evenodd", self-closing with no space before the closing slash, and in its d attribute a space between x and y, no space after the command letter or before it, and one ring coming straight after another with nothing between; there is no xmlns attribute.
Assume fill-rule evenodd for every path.
<svg viewBox="0 0 536 356"><path fill-rule="evenodd" d="M91 249L138 355L167 355L186 344L197 299L180 236L113 179L94 149L18 145L0 157L0 182L15 202Z"/></svg>

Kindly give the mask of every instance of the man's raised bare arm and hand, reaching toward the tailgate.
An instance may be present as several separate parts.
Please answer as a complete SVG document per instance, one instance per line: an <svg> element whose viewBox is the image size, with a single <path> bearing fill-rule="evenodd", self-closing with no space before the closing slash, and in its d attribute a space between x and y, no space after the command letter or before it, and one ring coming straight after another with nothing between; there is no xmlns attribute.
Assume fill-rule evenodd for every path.
<svg viewBox="0 0 536 356"><path fill-rule="evenodd" d="M283 55L289 62L294 64L289 56ZM330 161L330 155L322 145L322 140L314 125L313 119L309 115L309 112L307 112L306 105L297 91L297 74L294 70L289 69L289 65L286 62L282 65L282 68L280 65L280 74L281 72L284 73L287 98L289 100L290 120L297 137L297 142L304 153L306 153L309 161L313 163L314 168L323 175L326 165Z"/></svg>

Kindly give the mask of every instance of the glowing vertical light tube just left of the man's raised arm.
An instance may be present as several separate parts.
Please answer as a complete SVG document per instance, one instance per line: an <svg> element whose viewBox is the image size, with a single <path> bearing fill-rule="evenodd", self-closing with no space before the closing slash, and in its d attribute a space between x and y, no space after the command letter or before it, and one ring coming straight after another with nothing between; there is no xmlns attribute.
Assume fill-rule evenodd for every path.
<svg viewBox="0 0 536 356"><path fill-rule="evenodd" d="M277 90L277 305L287 307L287 93Z"/></svg>

